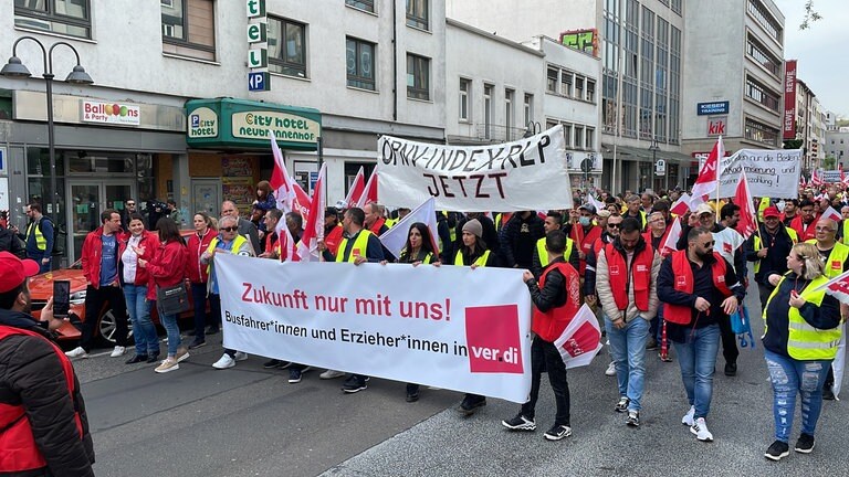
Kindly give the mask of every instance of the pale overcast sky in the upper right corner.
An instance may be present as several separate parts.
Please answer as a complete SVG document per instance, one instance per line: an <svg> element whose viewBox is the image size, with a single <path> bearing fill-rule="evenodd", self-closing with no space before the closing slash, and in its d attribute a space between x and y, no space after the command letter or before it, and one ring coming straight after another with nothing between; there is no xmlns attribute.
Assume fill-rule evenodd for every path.
<svg viewBox="0 0 849 477"><path fill-rule="evenodd" d="M845 40L849 28L846 0L814 0L821 20L799 30L805 17L805 0L774 0L784 13L784 57L798 60L797 77L817 95L826 110L849 118L849 61Z"/></svg>

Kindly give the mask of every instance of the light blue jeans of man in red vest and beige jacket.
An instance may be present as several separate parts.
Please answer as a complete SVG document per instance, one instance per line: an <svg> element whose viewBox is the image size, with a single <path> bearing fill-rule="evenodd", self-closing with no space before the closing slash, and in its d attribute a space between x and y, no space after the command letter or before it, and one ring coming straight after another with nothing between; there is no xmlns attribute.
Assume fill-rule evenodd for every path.
<svg viewBox="0 0 849 477"><path fill-rule="evenodd" d="M649 322L638 316L617 328L605 316L610 353L616 362L616 379L619 395L628 398L628 410L639 411L646 382L646 341L649 339Z"/></svg>

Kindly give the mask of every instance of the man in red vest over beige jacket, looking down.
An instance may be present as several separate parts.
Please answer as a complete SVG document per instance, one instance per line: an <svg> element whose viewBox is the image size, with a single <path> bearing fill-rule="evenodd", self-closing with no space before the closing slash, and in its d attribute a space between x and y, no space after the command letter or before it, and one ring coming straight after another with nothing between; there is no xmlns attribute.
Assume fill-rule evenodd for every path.
<svg viewBox="0 0 849 477"><path fill-rule="evenodd" d="M640 425L646 342L649 322L658 312L660 269L660 255L642 237L641 229L638 219L625 219L619 236L599 252L596 266L596 290L619 384L615 410L627 412L626 423L632 427Z"/></svg>

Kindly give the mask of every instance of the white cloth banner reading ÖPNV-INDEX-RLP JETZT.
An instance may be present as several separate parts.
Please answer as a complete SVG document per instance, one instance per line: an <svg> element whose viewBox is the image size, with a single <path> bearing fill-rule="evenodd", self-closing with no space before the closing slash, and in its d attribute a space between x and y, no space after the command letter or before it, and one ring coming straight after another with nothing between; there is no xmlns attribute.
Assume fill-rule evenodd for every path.
<svg viewBox="0 0 849 477"><path fill-rule="evenodd" d="M570 209L563 126L493 146L442 146L390 136L377 141L378 200L464 212Z"/></svg>

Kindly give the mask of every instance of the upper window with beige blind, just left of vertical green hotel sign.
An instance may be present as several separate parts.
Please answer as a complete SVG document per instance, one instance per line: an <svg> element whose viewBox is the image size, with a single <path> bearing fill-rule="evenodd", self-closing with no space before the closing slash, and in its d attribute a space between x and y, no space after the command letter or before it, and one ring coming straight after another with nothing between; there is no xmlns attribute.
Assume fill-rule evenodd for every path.
<svg viewBox="0 0 849 477"><path fill-rule="evenodd" d="M163 51L201 60L214 60L214 1L170 0L160 3Z"/></svg>

